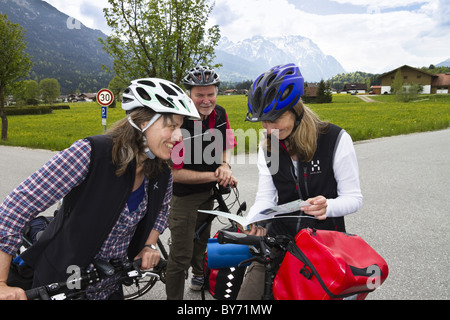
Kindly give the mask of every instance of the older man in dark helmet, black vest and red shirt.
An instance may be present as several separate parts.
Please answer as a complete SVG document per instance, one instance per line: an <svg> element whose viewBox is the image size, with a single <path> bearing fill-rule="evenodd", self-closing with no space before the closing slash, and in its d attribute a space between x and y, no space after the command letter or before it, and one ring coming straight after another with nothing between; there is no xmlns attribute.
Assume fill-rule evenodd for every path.
<svg viewBox="0 0 450 320"><path fill-rule="evenodd" d="M189 267L193 274L190 288L201 289L203 256L211 226L193 241L196 228L208 218L198 210L212 209L210 196L216 183L237 184L229 165L236 141L225 109L216 104L219 76L213 69L200 66L189 71L183 84L201 120L184 122L183 142L175 146L172 154L174 196L169 215L171 246L166 282L169 300L183 299L185 272Z"/></svg>

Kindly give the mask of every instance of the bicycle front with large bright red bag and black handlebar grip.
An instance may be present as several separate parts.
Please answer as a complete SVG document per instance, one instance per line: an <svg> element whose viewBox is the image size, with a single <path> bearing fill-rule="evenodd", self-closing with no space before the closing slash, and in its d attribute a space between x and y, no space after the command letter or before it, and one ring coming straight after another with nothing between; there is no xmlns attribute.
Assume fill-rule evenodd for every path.
<svg viewBox="0 0 450 320"><path fill-rule="evenodd" d="M306 228L294 238L220 230L217 240L249 247L253 257L239 265L257 261L265 266L261 300L273 300L274 296L289 300L364 300L389 273L386 261L373 248L361 237L346 232Z"/></svg>

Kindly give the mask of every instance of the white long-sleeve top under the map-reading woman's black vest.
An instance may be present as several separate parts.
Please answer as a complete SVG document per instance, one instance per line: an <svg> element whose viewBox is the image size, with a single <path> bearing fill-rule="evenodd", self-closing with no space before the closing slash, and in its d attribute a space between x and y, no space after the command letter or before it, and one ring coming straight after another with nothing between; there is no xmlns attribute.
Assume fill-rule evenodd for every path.
<svg viewBox="0 0 450 320"><path fill-rule="evenodd" d="M297 170L296 162L293 161L293 163ZM267 167L264 150L261 146L258 151L258 171L258 191L255 203L249 210L249 218L262 210L277 205L278 192ZM363 200L359 182L359 166L352 138L345 131L336 148L333 171L337 182L338 197L327 199L327 217L342 217L358 211ZM298 172L296 174L298 176Z"/></svg>

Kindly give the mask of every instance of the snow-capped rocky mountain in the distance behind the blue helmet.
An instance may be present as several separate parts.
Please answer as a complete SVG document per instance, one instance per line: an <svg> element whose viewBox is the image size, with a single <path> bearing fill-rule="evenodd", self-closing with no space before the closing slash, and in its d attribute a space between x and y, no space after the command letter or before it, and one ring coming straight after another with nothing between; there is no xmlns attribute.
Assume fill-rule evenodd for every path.
<svg viewBox="0 0 450 320"><path fill-rule="evenodd" d="M345 73L335 58L325 55L314 42L302 36L255 36L237 43L224 37L216 54L215 62L223 64L220 77L224 81L254 80L271 67L285 63L297 64L308 82Z"/></svg>

